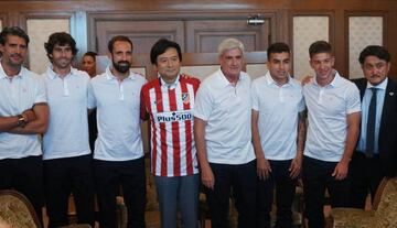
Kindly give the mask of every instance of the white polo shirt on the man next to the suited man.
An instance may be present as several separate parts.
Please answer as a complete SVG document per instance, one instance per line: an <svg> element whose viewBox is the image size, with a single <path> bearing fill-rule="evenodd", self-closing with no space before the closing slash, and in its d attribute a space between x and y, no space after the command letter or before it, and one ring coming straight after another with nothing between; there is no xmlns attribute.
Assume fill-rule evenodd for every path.
<svg viewBox="0 0 397 228"><path fill-rule="evenodd" d="M340 162L346 141L347 115L361 111L358 88L336 73L324 87L315 80L307 84L303 96L309 110L304 155Z"/></svg>

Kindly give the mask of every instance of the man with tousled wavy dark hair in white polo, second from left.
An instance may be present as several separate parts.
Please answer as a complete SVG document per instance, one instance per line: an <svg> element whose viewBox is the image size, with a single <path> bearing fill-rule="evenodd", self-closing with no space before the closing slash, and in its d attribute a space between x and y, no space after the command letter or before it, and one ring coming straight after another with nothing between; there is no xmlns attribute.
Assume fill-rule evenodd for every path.
<svg viewBox="0 0 397 228"><path fill-rule="evenodd" d="M68 197L81 224L94 226L94 186L88 144L87 91L89 76L72 67L76 42L65 33L44 44L51 65L46 82L50 124L43 138L44 187L49 227L68 225Z"/></svg>

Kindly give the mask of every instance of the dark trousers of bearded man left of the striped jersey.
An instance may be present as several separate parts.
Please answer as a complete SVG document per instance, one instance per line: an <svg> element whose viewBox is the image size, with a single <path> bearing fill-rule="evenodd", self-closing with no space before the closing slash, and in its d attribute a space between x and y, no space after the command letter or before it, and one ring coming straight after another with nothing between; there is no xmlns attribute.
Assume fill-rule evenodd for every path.
<svg viewBox="0 0 397 228"><path fill-rule="evenodd" d="M144 159L121 162L94 160L94 176L100 227L116 228L116 196L120 184L128 211L128 228L144 227Z"/></svg>

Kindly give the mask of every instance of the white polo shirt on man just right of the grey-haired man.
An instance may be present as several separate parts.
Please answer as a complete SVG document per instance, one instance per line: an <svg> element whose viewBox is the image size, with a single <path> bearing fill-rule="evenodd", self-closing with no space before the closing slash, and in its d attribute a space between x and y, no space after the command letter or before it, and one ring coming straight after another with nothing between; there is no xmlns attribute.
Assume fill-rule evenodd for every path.
<svg viewBox="0 0 397 228"><path fill-rule="evenodd" d="M289 77L287 84L278 86L268 72L255 79L251 88L265 158L276 161L296 158L298 113L304 110L300 83Z"/></svg>

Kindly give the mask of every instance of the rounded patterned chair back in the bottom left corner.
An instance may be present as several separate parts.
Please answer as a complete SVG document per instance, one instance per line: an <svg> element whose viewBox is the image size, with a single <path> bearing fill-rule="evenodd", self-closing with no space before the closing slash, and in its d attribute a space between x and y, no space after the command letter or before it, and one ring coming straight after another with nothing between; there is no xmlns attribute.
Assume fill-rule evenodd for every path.
<svg viewBox="0 0 397 228"><path fill-rule="evenodd" d="M0 191L0 219L12 228L41 228L32 204L13 189Z"/></svg>

